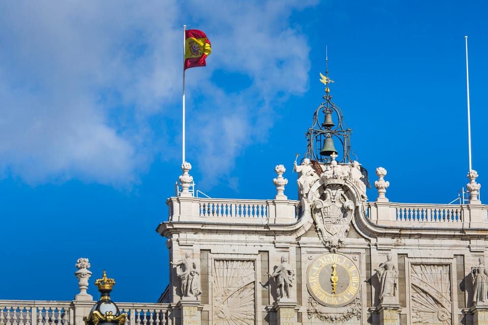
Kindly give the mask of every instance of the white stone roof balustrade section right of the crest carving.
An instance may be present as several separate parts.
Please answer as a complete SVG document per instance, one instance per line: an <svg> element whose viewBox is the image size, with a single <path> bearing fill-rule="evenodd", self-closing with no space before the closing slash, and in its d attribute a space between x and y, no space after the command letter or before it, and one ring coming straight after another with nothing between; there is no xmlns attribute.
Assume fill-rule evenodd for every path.
<svg viewBox="0 0 488 325"><path fill-rule="evenodd" d="M406 228L463 228L488 223L488 205L369 202L367 215L377 224Z"/></svg>

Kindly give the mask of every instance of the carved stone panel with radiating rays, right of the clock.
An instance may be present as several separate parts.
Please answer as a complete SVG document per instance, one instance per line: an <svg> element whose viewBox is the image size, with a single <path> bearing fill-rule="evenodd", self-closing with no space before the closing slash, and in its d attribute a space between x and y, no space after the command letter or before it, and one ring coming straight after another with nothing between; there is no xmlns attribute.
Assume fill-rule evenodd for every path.
<svg viewBox="0 0 488 325"><path fill-rule="evenodd" d="M411 265L412 323L451 323L449 265Z"/></svg>

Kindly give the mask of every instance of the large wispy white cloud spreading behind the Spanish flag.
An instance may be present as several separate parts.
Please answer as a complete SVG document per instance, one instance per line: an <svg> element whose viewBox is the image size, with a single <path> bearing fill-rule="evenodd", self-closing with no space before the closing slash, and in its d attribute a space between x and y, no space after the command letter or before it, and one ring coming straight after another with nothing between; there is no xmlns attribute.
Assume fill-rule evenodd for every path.
<svg viewBox="0 0 488 325"><path fill-rule="evenodd" d="M204 139L199 145L205 154L197 158L208 177L218 172L209 152L224 157L230 173L240 150L271 125L258 118L272 112L270 99L307 88L307 39L288 23L304 5L183 6L188 7L171 1L1 3L3 171L33 184L79 178L124 185L137 180L156 152L172 151L155 136L169 135L149 121L180 107L179 17L186 17L198 23L190 28L204 29L213 49L208 67L192 73L188 85L201 95L194 122L204 125L197 136ZM217 68L246 75L251 85L229 95L225 84L209 81Z"/></svg>

